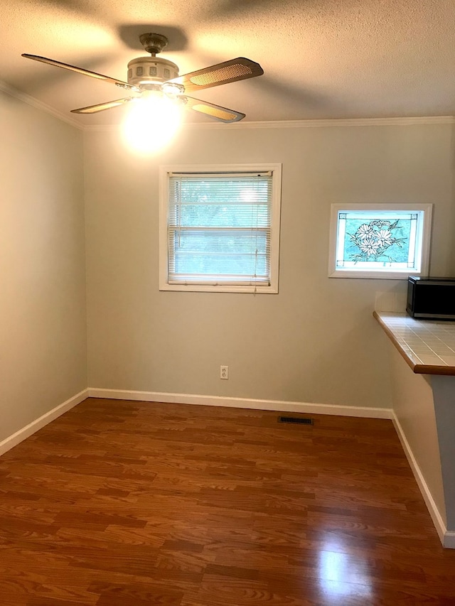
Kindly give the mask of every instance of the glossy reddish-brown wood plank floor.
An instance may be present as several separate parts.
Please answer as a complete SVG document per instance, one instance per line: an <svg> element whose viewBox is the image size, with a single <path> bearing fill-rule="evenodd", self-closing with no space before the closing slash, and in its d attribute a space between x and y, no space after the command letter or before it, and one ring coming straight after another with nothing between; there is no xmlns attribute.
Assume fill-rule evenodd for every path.
<svg viewBox="0 0 455 606"><path fill-rule="evenodd" d="M87 399L0 458L0 606L455 605L390 421Z"/></svg>

